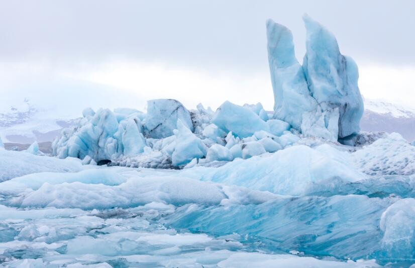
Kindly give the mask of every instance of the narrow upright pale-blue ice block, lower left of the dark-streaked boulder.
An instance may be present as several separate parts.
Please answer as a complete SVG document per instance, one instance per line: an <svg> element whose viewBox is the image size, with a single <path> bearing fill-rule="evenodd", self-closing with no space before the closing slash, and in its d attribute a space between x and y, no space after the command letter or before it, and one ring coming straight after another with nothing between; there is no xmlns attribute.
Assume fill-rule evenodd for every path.
<svg viewBox="0 0 415 268"><path fill-rule="evenodd" d="M144 151L146 140L140 128L141 122L138 118L128 119L122 138L125 156L135 156Z"/></svg>

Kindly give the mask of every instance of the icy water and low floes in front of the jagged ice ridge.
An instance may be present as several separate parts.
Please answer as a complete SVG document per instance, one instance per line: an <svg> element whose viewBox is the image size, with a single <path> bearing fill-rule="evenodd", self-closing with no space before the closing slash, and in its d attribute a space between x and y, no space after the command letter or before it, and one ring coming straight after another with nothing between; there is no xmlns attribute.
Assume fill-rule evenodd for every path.
<svg viewBox="0 0 415 268"><path fill-rule="evenodd" d="M286 150L284 157L290 151L297 153ZM9 156L17 161L15 152L3 151L3 159ZM25 156L40 165L26 165L34 170L26 175L19 165L9 165L12 178L0 183L1 266L409 267L415 262L411 174L349 172L322 167L314 157L315 164L284 182L290 169L268 167L278 154L184 170L82 166L74 159ZM39 170L44 167L47 172ZM333 175L340 172L359 180ZM303 194L286 194L298 191Z"/></svg>

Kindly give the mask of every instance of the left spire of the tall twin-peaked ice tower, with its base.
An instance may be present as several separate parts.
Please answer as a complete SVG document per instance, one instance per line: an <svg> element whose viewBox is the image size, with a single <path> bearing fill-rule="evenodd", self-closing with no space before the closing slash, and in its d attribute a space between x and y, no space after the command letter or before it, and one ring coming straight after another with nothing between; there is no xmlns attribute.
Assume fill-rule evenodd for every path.
<svg viewBox="0 0 415 268"><path fill-rule="evenodd" d="M291 31L267 21L268 61L274 90L274 118L306 136L337 141L338 112L320 106L308 90L302 66L294 54ZM337 118L336 118L337 116Z"/></svg>

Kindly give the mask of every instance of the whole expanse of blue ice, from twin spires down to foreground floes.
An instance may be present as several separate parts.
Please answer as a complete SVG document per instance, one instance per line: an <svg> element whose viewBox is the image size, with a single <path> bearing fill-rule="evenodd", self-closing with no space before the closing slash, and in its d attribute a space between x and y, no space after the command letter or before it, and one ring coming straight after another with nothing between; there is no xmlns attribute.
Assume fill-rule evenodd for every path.
<svg viewBox="0 0 415 268"><path fill-rule="evenodd" d="M355 62L266 22L274 111L86 108L51 155L0 140L5 267L413 267L415 146L361 132Z"/></svg>

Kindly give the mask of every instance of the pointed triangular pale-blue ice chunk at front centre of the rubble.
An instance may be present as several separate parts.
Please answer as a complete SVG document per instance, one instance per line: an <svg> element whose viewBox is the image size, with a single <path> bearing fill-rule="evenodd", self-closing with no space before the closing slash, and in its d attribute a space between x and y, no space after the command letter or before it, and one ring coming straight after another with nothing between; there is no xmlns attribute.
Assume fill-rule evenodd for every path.
<svg viewBox="0 0 415 268"><path fill-rule="evenodd" d="M201 158L206 155L206 145L180 119L177 120L175 136L176 144L171 156L173 165L185 165L193 158Z"/></svg>

